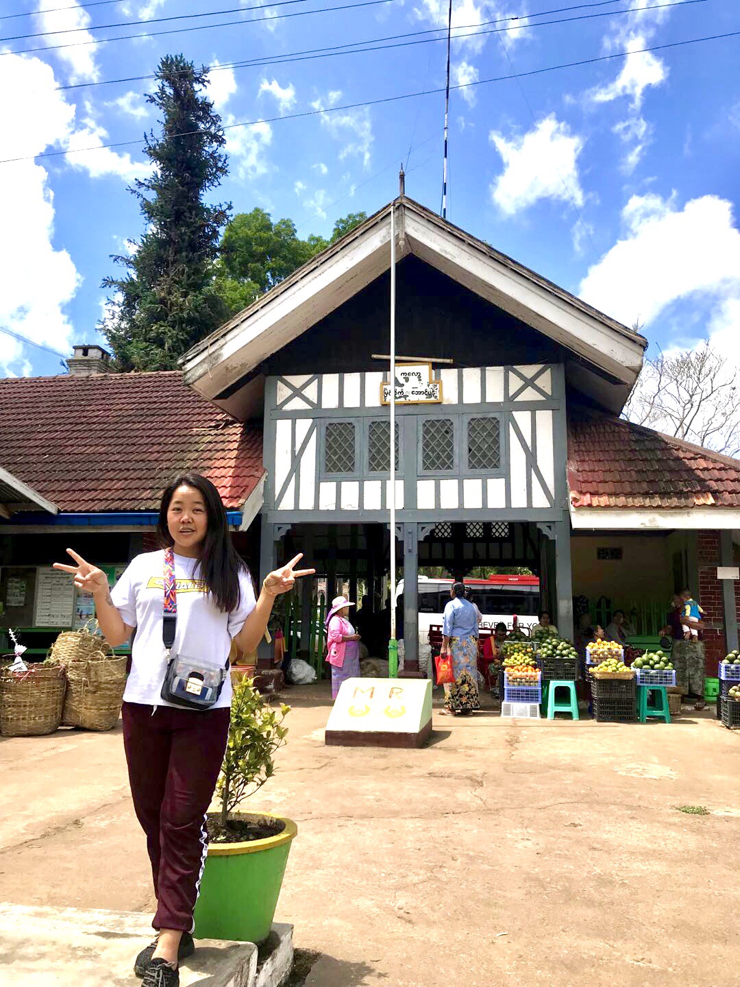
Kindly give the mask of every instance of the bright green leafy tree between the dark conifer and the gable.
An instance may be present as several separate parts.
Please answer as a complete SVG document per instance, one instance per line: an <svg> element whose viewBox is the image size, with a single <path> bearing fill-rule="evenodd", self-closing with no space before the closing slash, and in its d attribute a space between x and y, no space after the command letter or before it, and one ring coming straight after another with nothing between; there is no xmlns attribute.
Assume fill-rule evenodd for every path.
<svg viewBox="0 0 740 987"><path fill-rule="evenodd" d="M234 216L224 230L216 265L216 290L229 314L247 308L366 218L364 212L349 213L336 220L330 240L315 234L301 240L292 219L273 223L259 207Z"/></svg>

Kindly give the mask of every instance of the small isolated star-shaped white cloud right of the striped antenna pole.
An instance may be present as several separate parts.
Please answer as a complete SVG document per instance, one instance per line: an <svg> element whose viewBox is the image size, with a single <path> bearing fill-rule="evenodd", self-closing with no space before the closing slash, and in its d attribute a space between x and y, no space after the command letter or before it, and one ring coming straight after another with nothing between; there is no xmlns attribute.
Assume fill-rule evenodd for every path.
<svg viewBox="0 0 740 987"><path fill-rule="evenodd" d="M583 204L577 164L583 141L555 114L540 120L522 137L507 140L491 130L489 139L504 164L490 186L490 195L504 213L513 215L541 198Z"/></svg>

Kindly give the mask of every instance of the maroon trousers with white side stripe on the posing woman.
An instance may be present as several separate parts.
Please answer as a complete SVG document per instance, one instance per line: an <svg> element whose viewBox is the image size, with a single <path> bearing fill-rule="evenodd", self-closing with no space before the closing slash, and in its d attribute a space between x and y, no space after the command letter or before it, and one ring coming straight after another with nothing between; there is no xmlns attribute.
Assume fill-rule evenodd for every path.
<svg viewBox="0 0 740 987"><path fill-rule="evenodd" d="M205 865L205 813L226 749L231 711L123 703L123 746L157 896L155 929L192 932Z"/></svg>

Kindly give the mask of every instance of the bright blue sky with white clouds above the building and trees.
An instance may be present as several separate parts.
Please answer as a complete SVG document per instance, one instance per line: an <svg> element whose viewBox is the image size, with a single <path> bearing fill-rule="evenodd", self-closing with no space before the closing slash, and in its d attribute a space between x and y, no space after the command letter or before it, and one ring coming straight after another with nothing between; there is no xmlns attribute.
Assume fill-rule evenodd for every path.
<svg viewBox="0 0 740 987"><path fill-rule="evenodd" d="M578 0L455 0L456 33L469 37L453 43L453 84L512 68L523 73L632 53L454 91L448 218L628 325L638 320L663 348L708 335L734 358L740 339L740 37L652 53L638 49L738 31L740 10L735 0L660 3L592 2L535 17L578 6ZM8 14L70 9L2 20L2 38L87 30L0 41L0 52L149 37L0 54L0 85L11 94L0 158L135 141L156 125L142 99L151 82L57 86L147 75L168 52L209 65L281 58L446 21L444 0L276 16L339 6L337 0L301 0L155 23L229 6L237 7L237 0L125 0L85 10L73 0L5 0ZM597 13L609 16L537 26ZM522 18L521 30L483 33L512 25L499 19L513 16ZM259 21L248 23L254 18ZM142 20L147 23L137 27L90 30ZM491 21L498 23L484 25ZM235 212L259 205L274 219L289 216L302 236L326 234L338 216L371 213L393 198L404 161L407 194L438 209L441 95L284 117L434 89L444 85L444 68L440 41L214 71L211 93L224 122L262 121L229 129L231 174L218 197L231 199ZM105 301L100 282L115 269L109 255L141 233L136 202L126 191L146 172L140 147L0 169L0 325L63 353L73 342L95 342ZM57 372L58 357L0 335L0 374Z"/></svg>

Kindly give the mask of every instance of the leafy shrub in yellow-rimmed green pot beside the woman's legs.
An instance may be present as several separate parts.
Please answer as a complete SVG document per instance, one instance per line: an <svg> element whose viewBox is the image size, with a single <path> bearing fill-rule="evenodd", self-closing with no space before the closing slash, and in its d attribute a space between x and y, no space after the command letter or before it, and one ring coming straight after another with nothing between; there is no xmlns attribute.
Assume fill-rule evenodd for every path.
<svg viewBox="0 0 740 987"><path fill-rule="evenodd" d="M261 943L269 935L290 844L291 819L239 811L274 772L275 751L285 743L290 707L270 707L252 679L234 688L229 739L216 786L217 812L206 819L208 854L195 906L198 939Z"/></svg>

